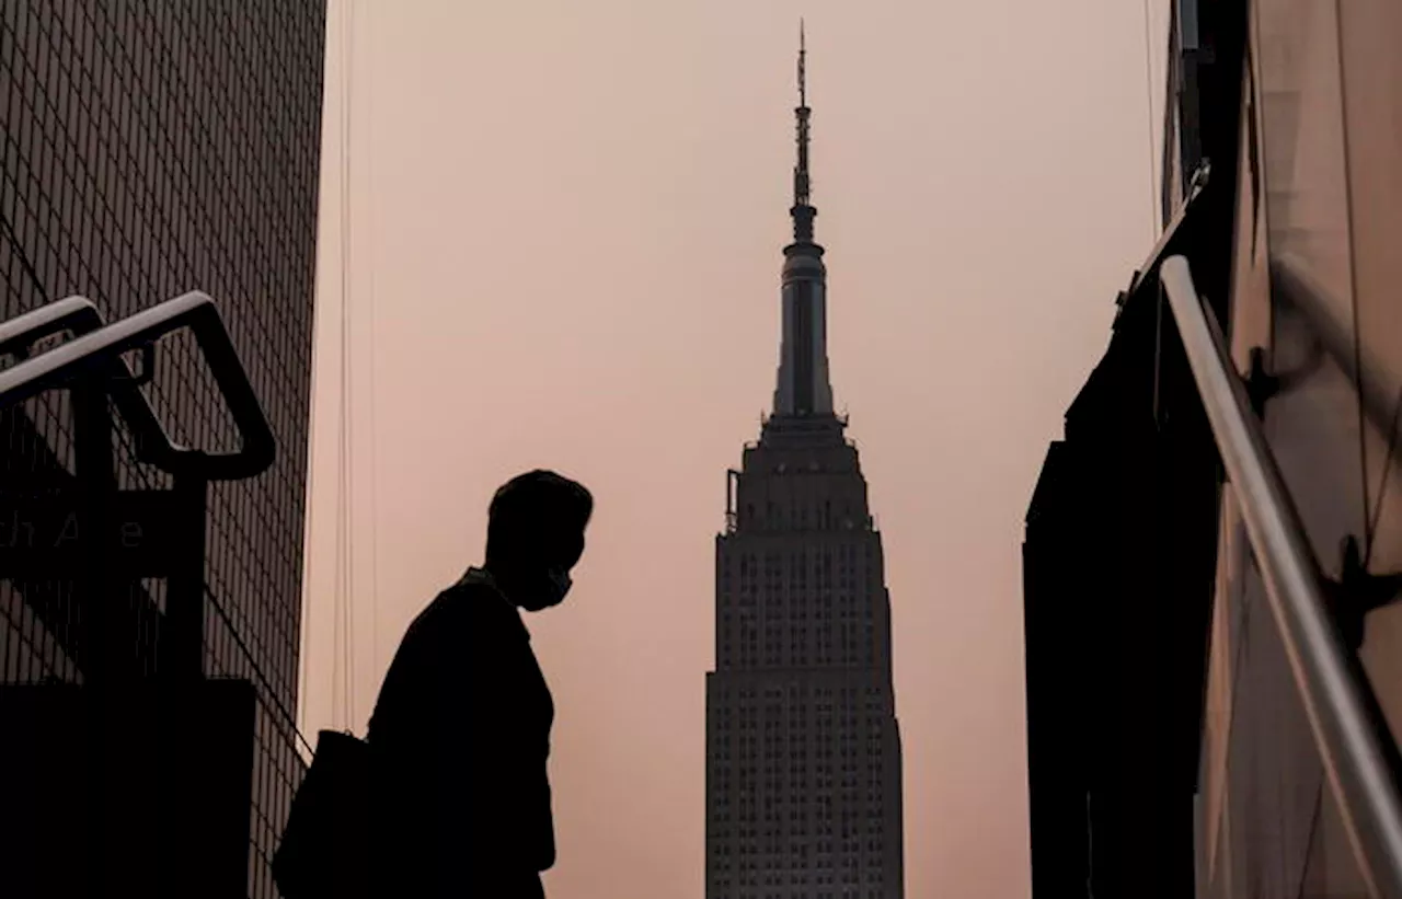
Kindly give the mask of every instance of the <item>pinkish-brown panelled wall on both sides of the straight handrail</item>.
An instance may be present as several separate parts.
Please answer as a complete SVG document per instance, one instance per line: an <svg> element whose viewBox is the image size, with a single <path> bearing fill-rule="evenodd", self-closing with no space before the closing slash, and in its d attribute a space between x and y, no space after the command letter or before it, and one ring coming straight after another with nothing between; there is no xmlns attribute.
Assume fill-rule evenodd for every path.
<svg viewBox="0 0 1402 899"><path fill-rule="evenodd" d="M1266 439L1333 583L1396 787L1402 606L1387 578L1402 571L1402 11L1253 0L1245 14L1232 353L1245 372L1259 352L1281 379L1263 405ZM1231 489L1220 533L1200 886L1366 895L1371 872L1345 825L1354 809L1330 791L1286 647L1256 614L1266 590Z"/></svg>

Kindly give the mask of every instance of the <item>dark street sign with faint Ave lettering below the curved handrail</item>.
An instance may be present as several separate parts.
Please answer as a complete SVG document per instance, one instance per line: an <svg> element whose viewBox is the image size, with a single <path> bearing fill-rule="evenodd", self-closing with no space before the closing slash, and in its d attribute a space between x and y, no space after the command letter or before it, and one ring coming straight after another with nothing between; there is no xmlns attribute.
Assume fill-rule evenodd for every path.
<svg viewBox="0 0 1402 899"><path fill-rule="evenodd" d="M191 515L175 491L116 491L111 499L105 533L94 534L81 495L0 494L0 578L79 578L98 548L114 576L165 578L179 564L191 529L205 526L186 520ZM203 509L198 512L202 518ZM95 536L101 547L91 546Z"/></svg>

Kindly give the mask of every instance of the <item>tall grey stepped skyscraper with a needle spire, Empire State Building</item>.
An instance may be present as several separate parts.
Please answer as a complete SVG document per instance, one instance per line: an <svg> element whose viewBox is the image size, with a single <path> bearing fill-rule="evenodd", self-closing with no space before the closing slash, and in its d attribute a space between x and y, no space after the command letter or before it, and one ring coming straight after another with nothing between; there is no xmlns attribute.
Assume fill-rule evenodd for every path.
<svg viewBox="0 0 1402 899"><path fill-rule="evenodd" d="M900 899L901 755L880 533L833 412L799 45L774 411L726 481L707 675L707 899Z"/></svg>

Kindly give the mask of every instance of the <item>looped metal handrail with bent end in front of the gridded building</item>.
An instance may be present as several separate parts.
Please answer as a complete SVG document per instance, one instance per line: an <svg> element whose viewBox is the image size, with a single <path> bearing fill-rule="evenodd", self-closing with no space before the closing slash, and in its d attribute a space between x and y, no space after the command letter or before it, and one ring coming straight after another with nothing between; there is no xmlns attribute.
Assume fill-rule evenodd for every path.
<svg viewBox="0 0 1402 899"><path fill-rule="evenodd" d="M243 446L237 452L206 453L171 442L154 410L132 383L130 369L121 358L125 352L140 349L156 338L186 327L193 332L234 417L243 438ZM0 351L27 349L35 341L64 330L72 330L79 337L0 372L0 407L22 403L59 387L84 367L107 365L115 376L112 398L137 433L143 461L172 474L193 474L219 481L252 477L266 471L273 463L276 442L272 428L219 309L207 295L186 293L109 325L102 324L93 303L83 297L69 297L0 324Z"/></svg>

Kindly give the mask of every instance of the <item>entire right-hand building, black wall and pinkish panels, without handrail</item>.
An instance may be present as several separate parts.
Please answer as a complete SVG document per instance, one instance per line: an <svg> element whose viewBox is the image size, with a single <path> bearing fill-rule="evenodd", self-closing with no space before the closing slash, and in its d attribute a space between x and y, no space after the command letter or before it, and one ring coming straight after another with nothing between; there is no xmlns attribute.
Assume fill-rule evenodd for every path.
<svg viewBox="0 0 1402 899"><path fill-rule="evenodd" d="M1165 233L1028 512L1033 896L1391 895L1402 858L1350 837L1332 783L1357 771L1311 725L1158 264L1183 255L1223 325L1396 794L1402 14L1175 0L1166 38Z"/></svg>

